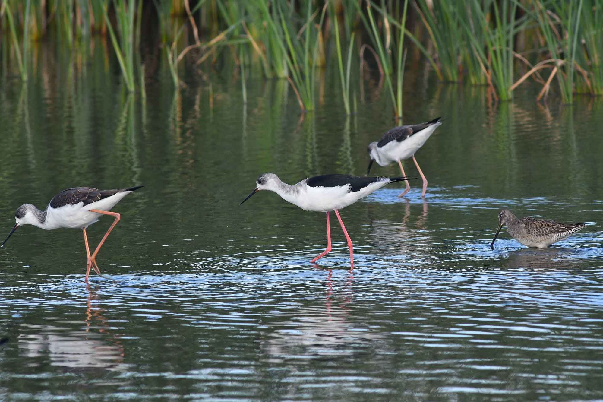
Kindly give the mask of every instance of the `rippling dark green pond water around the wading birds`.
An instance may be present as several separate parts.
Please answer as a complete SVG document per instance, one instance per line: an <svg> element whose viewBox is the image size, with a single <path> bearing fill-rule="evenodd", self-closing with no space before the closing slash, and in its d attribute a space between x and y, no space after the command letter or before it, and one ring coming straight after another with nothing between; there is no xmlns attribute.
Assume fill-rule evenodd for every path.
<svg viewBox="0 0 603 402"><path fill-rule="evenodd" d="M99 66L100 65L100 66ZM593 400L603 398L603 100L535 103L409 71L405 123L445 116L417 152L429 180L383 188L332 219L261 192L363 174L394 124L387 92L347 117L335 69L300 118L283 80L163 71L147 98L102 63L35 70L0 90L0 232L17 206L74 186L144 184L86 268L79 230L19 229L0 249L0 396L7 400ZM213 100L210 103L210 90ZM412 162L406 172L416 175ZM373 167L399 175L395 165ZM501 208L588 222L545 250L502 232ZM90 226L98 241L110 218Z"/></svg>

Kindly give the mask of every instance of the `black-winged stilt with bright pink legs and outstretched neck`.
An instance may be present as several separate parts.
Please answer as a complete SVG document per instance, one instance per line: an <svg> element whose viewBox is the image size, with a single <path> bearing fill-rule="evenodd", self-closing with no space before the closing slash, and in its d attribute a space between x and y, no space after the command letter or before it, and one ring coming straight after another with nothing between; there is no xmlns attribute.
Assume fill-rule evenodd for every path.
<svg viewBox="0 0 603 402"><path fill-rule="evenodd" d="M338 209L345 208L368 196L373 191L384 185L394 182L408 180L406 177L358 177L347 174L323 174L321 176L309 177L301 182L289 185L280 181L279 176L274 173L263 173L256 180L256 188L251 194L242 200L241 204L250 199L258 190L270 190L292 204L306 211L326 212L327 214L327 249L311 263L324 257L331 250L331 231L329 225L329 212L335 211L339 225L346 235L347 246L350 249L351 268L354 267L352 253L352 240L347 234L346 226L339 216ZM239 205L241 205L239 204Z"/></svg>

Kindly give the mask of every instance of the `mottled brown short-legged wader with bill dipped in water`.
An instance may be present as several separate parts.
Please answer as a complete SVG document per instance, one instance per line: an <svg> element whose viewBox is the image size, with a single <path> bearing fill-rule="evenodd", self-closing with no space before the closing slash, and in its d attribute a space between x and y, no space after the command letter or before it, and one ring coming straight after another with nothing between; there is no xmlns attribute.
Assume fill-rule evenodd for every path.
<svg viewBox="0 0 603 402"><path fill-rule="evenodd" d="M494 241L500 233L503 225L507 225L507 232L515 240L526 247L538 247L545 249L557 241L565 240L576 232L586 228L584 223L561 223L548 219L519 218L508 209L503 209L498 214L498 230L490 243L494 248Z"/></svg>

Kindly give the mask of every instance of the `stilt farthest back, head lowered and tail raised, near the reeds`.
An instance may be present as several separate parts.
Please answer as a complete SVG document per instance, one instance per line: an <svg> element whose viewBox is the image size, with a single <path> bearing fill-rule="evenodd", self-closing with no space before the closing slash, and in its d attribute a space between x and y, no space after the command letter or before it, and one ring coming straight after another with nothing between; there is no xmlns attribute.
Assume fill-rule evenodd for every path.
<svg viewBox="0 0 603 402"><path fill-rule="evenodd" d="M418 173L421 175L421 179L423 179L423 193L421 193L421 197L425 198L427 179L425 178L423 171L421 171L421 168L418 167L417 159L415 159L414 154L417 152L418 148L425 144L425 141L427 141L429 136L431 136L435 129L441 126L441 124L440 117L438 117L421 124L394 127L382 135L379 142L375 141L368 144L367 152L371 157L371 161L368 164L367 176L371 171L371 166L374 161L377 161L381 166L387 166L391 162L398 162L403 176L406 176L404 168L402 167L402 161L403 159L408 159L412 156L412 160L415 162L415 165L417 165ZM406 190L404 190L399 197L404 196L410 189L411 186L406 182Z"/></svg>

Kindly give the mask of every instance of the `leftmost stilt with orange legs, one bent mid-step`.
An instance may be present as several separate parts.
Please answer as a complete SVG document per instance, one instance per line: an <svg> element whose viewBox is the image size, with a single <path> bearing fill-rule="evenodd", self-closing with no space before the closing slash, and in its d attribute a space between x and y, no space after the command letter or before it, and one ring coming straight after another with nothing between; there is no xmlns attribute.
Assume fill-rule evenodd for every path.
<svg viewBox="0 0 603 402"><path fill-rule="evenodd" d="M23 204L14 212L15 223L13 230L10 231L7 238L2 242L0 247L4 247L4 243L17 230L19 226L34 225L38 228L51 230L58 228L83 229L84 243L86 244L86 255L88 257L86 269L86 281L90 273L90 267L94 272L101 275L101 270L96 264L96 254L103 245L109 233L119 222L120 215L117 212L109 212L122 198L130 194L134 190L138 190L143 186L130 188L120 188L118 190L97 190L90 187L76 187L61 191L50 201L44 211L40 211L36 206L31 204ZM110 226L103 240L98 243L94 253L90 255L88 247L88 238L86 236L86 228L92 223L95 223L98 218L103 215L111 215L115 217L115 221Z"/></svg>

